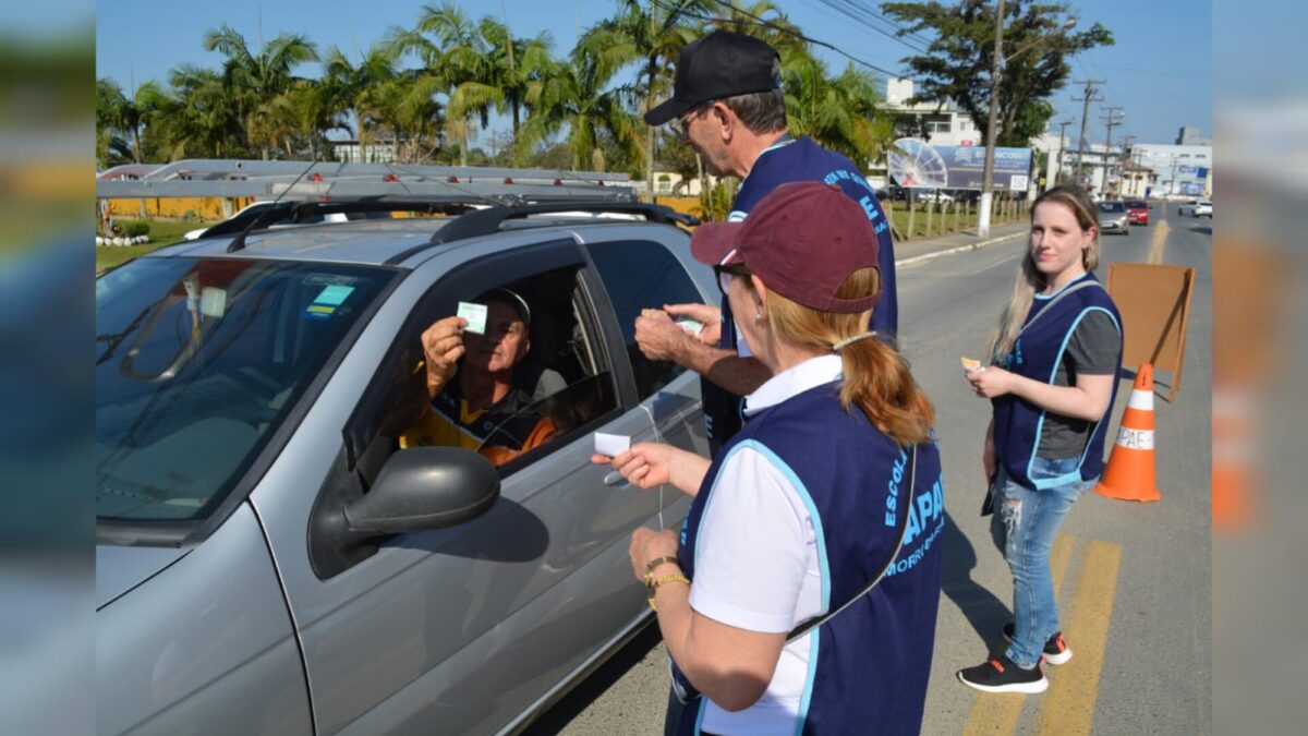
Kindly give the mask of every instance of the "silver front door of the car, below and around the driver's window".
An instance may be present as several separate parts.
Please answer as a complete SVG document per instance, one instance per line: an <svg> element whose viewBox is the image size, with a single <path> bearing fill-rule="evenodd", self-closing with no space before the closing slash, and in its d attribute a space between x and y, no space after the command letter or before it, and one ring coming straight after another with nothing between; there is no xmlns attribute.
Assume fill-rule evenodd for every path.
<svg viewBox="0 0 1308 736"><path fill-rule="evenodd" d="M322 401L334 401L332 388L354 397L345 411L337 405L314 420L314 440L303 448L330 468L288 468L280 482L300 483L297 504L272 488L256 494L276 537L322 732L494 732L544 702L645 614L627 543L655 503L590 456L596 430L644 441L654 439L654 427L636 402L616 320L583 251L570 238L522 245L531 238L500 238L517 248L459 246L416 270L392 296L405 304L387 304L386 318L370 325L370 333L388 334L365 335L351 354L371 371L343 365L332 381L347 385L323 393ZM391 431L392 376L409 371L422 327L490 287L560 274L570 275L574 292L570 334L594 371L574 386L590 402L590 389L599 388L593 413L502 466L498 502L473 521L352 547L315 533L320 509L366 488L369 458L390 441L383 432ZM301 449L294 444L288 454ZM305 487L313 487L309 498Z"/></svg>

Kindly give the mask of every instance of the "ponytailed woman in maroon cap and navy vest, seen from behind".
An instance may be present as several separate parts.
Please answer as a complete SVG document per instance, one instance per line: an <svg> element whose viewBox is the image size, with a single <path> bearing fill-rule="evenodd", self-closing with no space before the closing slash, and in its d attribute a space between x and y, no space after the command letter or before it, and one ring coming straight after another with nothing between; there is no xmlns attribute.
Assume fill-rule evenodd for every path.
<svg viewBox="0 0 1308 736"><path fill-rule="evenodd" d="M712 461L649 443L595 457L695 496L680 534L630 543L672 656L668 729L916 733L944 503L930 402L865 331L872 227L838 189L791 183L692 249L773 377Z"/></svg>

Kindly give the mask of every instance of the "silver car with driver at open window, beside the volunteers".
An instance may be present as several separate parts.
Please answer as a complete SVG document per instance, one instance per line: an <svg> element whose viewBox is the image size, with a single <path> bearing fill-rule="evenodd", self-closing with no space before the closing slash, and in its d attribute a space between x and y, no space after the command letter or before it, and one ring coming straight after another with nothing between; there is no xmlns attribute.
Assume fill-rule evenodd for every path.
<svg viewBox="0 0 1308 736"><path fill-rule="evenodd" d="M708 453L698 377L633 322L714 303L713 274L668 224L494 212L205 238L97 280L98 732L510 732L650 621L628 541L688 499L593 465L593 435ZM500 468L398 449L420 333L497 285L566 382L531 409L560 433Z"/></svg>

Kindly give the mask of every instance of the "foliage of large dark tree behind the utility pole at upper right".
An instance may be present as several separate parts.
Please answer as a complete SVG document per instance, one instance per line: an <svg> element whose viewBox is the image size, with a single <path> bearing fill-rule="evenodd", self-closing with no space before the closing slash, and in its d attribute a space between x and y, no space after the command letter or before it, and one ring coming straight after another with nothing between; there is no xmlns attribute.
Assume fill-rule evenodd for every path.
<svg viewBox="0 0 1308 736"><path fill-rule="evenodd" d="M929 31L927 52L904 58L918 80L910 102L954 101L978 130L986 130L994 71L995 7L993 0L884 3L882 10L904 24L900 35ZM1067 20L1065 3L1008 0L1003 21L1005 67L999 77L999 145L1024 147L1044 132L1053 105L1049 98L1071 73L1069 59L1096 46L1112 46L1113 34L1100 24L1059 33Z"/></svg>

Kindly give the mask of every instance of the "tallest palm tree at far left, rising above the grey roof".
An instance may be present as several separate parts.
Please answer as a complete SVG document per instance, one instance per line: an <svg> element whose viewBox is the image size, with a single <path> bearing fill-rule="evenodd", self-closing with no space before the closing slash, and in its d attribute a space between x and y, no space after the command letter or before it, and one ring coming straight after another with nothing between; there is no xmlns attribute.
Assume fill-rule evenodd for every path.
<svg viewBox="0 0 1308 736"><path fill-rule="evenodd" d="M246 141L258 145L263 158L268 158L269 148L276 145L268 138L275 130L268 120L272 114L271 103L290 88L296 79L292 69L318 60L318 47L302 34L284 33L264 43L255 54L243 35L222 24L217 30L205 31L204 48L226 56L222 79L235 101Z"/></svg>

